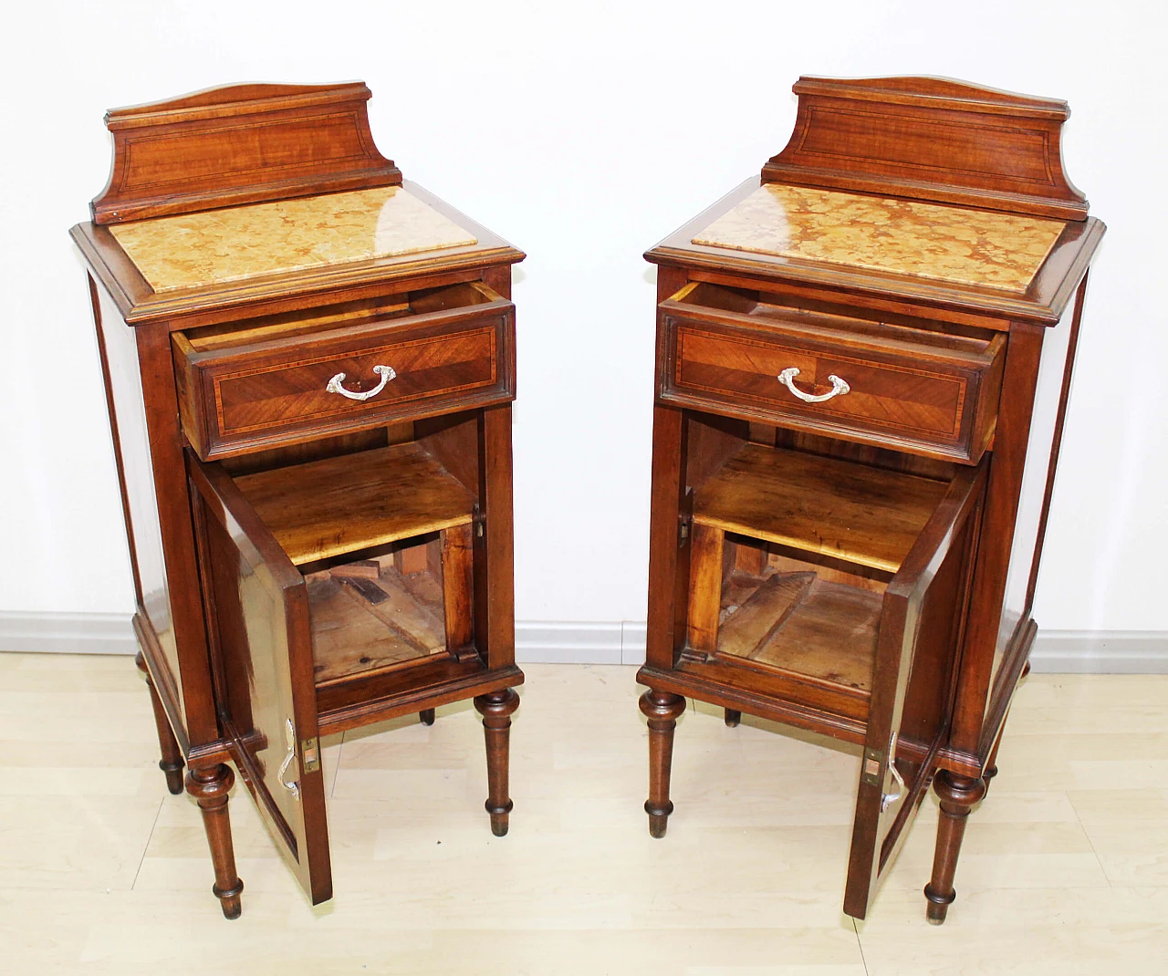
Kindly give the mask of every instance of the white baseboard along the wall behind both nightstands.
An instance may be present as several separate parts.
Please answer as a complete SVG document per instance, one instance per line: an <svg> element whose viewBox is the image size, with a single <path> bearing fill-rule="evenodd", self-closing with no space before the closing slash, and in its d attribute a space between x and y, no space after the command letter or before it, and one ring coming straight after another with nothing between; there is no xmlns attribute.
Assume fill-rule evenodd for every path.
<svg viewBox="0 0 1168 976"><path fill-rule="evenodd" d="M0 650L133 654L128 613L4 613ZM645 623L537 621L515 623L521 664L644 664ZM1168 632L1040 630L1030 651L1047 674L1168 674Z"/></svg>

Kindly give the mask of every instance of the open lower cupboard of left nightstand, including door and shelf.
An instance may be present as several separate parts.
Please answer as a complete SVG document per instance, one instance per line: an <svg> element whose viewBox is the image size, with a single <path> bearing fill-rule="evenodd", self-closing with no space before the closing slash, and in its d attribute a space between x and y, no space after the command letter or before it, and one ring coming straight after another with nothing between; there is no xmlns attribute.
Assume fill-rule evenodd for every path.
<svg viewBox="0 0 1168 976"><path fill-rule="evenodd" d="M475 497L423 441L234 477L187 462L224 734L315 904L319 737L517 683L475 649Z"/></svg>

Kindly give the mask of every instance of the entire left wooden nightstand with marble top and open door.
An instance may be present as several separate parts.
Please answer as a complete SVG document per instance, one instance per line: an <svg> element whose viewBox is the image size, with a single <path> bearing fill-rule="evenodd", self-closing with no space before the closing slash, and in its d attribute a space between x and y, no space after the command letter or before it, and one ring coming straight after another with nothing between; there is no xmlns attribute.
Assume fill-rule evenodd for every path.
<svg viewBox="0 0 1168 976"><path fill-rule="evenodd" d="M215 894L243 884L232 761L312 901L332 897L319 737L473 698L507 832L522 252L404 182L360 83L116 110L90 267L172 793Z"/></svg>

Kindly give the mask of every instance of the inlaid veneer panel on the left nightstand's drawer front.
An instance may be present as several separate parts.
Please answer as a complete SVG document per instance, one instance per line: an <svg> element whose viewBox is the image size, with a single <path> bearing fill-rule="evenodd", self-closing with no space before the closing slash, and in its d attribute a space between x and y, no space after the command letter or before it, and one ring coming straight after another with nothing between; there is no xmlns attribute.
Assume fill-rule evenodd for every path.
<svg viewBox="0 0 1168 976"><path fill-rule="evenodd" d="M349 388L375 385L375 365L396 374L376 397L356 402L327 390L339 372ZM495 329L481 328L224 374L214 381L215 413L224 434L242 434L280 420L380 412L390 404L491 386L496 379Z"/></svg>

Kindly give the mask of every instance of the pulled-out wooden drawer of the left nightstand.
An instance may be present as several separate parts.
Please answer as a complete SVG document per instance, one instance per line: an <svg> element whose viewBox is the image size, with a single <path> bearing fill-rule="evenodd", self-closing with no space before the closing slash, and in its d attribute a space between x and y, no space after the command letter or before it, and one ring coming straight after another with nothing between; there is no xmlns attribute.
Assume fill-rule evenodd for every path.
<svg viewBox="0 0 1168 976"><path fill-rule="evenodd" d="M478 281L175 333L173 350L203 460L515 397L515 307Z"/></svg>

